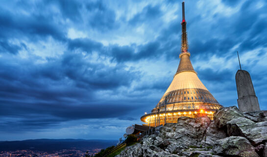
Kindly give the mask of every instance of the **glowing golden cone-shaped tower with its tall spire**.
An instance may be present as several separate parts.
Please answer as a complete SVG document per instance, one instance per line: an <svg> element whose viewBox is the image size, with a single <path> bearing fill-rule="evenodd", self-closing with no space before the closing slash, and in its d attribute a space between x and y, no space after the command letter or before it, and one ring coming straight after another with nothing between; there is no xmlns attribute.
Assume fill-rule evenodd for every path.
<svg viewBox="0 0 267 157"><path fill-rule="evenodd" d="M213 113L222 107L197 77L188 52L185 9L182 2L182 35L180 63L169 88L151 113L141 117L146 125L156 127L166 123L176 123L182 116L197 117Z"/></svg>

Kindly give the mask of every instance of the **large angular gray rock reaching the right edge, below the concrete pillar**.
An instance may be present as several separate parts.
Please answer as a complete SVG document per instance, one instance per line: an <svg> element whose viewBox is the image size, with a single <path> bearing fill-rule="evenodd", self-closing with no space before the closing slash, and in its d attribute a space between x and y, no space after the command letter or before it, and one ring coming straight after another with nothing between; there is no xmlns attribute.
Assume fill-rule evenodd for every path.
<svg viewBox="0 0 267 157"><path fill-rule="evenodd" d="M255 123L244 117L233 119L227 122L227 133L244 136L253 145L258 145L267 140L267 121Z"/></svg>

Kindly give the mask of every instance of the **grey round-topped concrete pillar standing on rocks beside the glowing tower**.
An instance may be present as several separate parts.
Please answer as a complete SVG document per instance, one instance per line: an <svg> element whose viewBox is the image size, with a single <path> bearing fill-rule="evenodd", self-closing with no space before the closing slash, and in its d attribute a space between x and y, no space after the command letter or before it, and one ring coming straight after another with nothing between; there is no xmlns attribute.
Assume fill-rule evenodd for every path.
<svg viewBox="0 0 267 157"><path fill-rule="evenodd" d="M241 112L260 110L258 98L256 97L250 75L247 71L237 71L236 84L239 110Z"/></svg>

